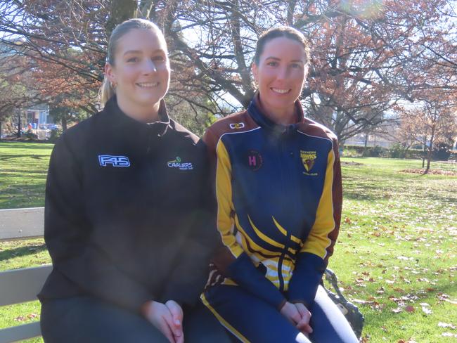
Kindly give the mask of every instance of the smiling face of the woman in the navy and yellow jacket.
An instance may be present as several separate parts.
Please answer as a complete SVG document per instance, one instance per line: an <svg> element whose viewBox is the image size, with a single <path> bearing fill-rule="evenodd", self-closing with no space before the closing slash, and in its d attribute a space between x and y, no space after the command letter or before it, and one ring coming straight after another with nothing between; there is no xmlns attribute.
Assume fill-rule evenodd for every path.
<svg viewBox="0 0 457 343"><path fill-rule="evenodd" d="M293 108L307 72L306 54L300 42L286 37L267 41L259 64L252 65L262 107L278 112Z"/></svg>

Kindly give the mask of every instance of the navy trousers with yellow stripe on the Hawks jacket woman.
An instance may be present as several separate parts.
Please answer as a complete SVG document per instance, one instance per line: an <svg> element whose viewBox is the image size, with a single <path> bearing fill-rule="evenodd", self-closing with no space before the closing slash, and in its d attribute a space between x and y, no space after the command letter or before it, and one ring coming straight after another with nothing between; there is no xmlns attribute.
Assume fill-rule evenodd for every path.
<svg viewBox="0 0 457 343"><path fill-rule="evenodd" d="M356 343L345 316L319 286L311 312L313 333L302 335L277 309L238 286L217 285L202 296L222 325L243 342Z"/></svg>

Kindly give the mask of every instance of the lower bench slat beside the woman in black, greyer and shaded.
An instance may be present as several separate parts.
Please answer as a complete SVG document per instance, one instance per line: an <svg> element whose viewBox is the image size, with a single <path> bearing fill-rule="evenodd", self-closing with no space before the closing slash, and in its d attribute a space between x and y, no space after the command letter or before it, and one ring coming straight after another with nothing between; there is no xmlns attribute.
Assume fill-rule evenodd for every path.
<svg viewBox="0 0 457 343"><path fill-rule="evenodd" d="M51 271L49 264L0 272L0 306L36 300Z"/></svg>

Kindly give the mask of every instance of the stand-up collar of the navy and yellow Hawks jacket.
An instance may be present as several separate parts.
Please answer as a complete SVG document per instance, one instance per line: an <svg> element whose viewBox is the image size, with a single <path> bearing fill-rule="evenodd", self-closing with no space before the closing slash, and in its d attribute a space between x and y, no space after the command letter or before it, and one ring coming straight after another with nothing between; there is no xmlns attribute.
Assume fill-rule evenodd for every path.
<svg viewBox="0 0 457 343"><path fill-rule="evenodd" d="M295 131L297 131L298 124L304 122L302 104L299 100L297 100L295 101L294 106L297 122L295 124L288 125L276 124L271 119L269 119L269 117L266 117L266 115L264 115L264 113L262 112L262 106L260 105L259 101L259 93L257 93L254 96L254 98L252 98L252 101L247 108L247 112L252 117L252 119L254 119L254 121L259 125L259 127L262 127L266 131L269 131L271 134L274 134L275 136L288 136L289 134L292 134Z"/></svg>

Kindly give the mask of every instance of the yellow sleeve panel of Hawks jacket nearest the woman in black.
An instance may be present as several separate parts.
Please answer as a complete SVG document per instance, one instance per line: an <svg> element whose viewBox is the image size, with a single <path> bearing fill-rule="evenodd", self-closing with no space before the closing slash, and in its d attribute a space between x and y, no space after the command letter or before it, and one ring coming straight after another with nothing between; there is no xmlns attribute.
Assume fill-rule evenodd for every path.
<svg viewBox="0 0 457 343"><path fill-rule="evenodd" d="M231 162L221 140L217 143L216 152L217 230L221 234L224 245L228 247L234 257L238 257L243 253L243 248L236 242L235 235L233 235Z"/></svg>

